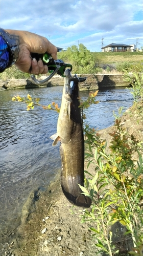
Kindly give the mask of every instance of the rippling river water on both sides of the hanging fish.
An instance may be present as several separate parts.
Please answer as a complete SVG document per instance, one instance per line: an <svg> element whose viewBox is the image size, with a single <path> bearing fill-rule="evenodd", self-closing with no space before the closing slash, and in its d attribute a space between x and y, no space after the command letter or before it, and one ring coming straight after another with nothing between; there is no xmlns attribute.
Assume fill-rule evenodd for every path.
<svg viewBox="0 0 143 256"><path fill-rule="evenodd" d="M28 93L40 98L43 105L55 101L61 104L63 87L0 92L0 241L5 242L9 230L18 225L21 209L33 189L41 191L49 185L61 167L59 145L52 146L50 136L56 133L58 114L37 106L26 110L26 104L13 102L14 95ZM81 92L83 99L88 92ZM86 110L86 123L96 129L113 124L113 111L132 105L128 89L116 88L99 91L99 104ZM0 242L0 249L1 249Z"/></svg>

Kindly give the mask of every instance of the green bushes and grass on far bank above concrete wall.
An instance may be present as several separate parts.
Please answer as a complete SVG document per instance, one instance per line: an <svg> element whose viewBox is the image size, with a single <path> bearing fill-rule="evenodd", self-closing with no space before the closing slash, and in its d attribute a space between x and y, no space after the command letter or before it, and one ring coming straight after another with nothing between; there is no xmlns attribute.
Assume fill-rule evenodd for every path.
<svg viewBox="0 0 143 256"><path fill-rule="evenodd" d="M143 52L90 52L83 44L73 45L66 51L58 52L58 58L73 65L73 73L94 74L103 72L123 72L123 69L132 72L133 67L140 66L142 72ZM40 75L38 76L40 77ZM27 79L30 75L18 70L15 66L0 73L0 79Z"/></svg>

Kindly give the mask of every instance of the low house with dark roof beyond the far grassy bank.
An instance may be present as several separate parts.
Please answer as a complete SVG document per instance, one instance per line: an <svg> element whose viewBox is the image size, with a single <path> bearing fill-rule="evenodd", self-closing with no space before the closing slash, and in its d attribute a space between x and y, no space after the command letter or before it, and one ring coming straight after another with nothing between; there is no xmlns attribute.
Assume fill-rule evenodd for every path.
<svg viewBox="0 0 143 256"><path fill-rule="evenodd" d="M112 42L112 44L108 45L108 46L104 46L101 48L102 52L134 52L134 45L125 45L125 44L114 44Z"/></svg>

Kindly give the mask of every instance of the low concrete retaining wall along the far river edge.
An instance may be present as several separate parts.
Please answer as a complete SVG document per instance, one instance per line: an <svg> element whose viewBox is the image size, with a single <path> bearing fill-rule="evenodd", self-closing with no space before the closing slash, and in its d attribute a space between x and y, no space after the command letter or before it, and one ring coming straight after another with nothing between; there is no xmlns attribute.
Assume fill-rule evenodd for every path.
<svg viewBox="0 0 143 256"><path fill-rule="evenodd" d="M78 76L87 77L85 82L80 83L80 91L91 91L98 89L102 90L109 87L129 86L129 84L123 80L122 74L80 74ZM45 76L42 76L41 79L45 79ZM63 84L64 78L59 75L55 75L50 79L50 81L40 85L35 84L32 79L9 79L7 81L3 81L0 79L0 91L18 88L30 89L38 87L63 86Z"/></svg>

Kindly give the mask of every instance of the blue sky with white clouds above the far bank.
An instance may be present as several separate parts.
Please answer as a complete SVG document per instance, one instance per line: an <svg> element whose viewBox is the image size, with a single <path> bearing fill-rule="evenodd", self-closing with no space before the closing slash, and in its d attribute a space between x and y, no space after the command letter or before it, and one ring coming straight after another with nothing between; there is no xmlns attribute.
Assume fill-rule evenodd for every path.
<svg viewBox="0 0 143 256"><path fill-rule="evenodd" d="M101 52L112 42L140 48L143 1L0 0L0 27L45 36L64 50L83 44L91 52Z"/></svg>

